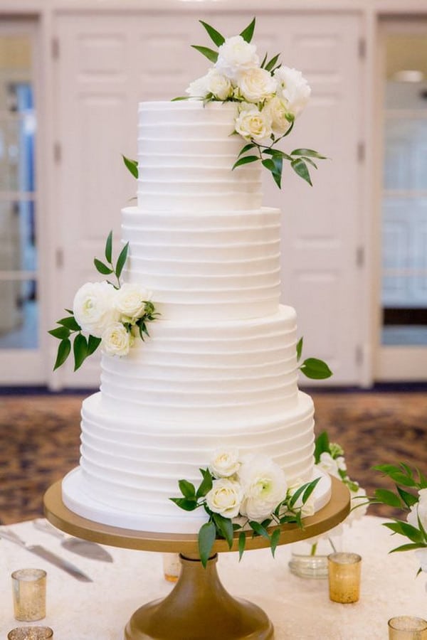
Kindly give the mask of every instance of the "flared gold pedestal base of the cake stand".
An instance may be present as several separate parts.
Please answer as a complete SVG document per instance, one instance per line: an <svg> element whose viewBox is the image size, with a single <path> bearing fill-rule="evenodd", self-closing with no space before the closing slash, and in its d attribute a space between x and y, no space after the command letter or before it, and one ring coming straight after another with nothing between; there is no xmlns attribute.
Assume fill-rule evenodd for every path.
<svg viewBox="0 0 427 640"><path fill-rule="evenodd" d="M164 599L137 609L125 628L125 640L268 640L273 625L263 609L236 599L216 571L218 555L206 569L197 558L181 555L181 575Z"/></svg>

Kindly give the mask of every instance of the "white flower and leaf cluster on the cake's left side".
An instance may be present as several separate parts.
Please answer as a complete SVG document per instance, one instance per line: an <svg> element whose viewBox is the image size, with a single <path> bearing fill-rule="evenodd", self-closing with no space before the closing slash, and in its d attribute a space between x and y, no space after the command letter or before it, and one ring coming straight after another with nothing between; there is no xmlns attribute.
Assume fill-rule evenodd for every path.
<svg viewBox="0 0 427 640"><path fill-rule="evenodd" d="M129 242L122 248L117 262L112 262L112 233L105 243L105 262L95 258L98 272L114 275L116 284L86 282L75 294L73 309L68 316L57 321L49 334L60 340L55 369L71 353L73 338L74 370L100 346L107 356L127 356L135 337L148 336L147 323L159 316L151 300L152 293L140 284L121 283L120 277L127 260ZM85 335L86 334L86 335Z"/></svg>

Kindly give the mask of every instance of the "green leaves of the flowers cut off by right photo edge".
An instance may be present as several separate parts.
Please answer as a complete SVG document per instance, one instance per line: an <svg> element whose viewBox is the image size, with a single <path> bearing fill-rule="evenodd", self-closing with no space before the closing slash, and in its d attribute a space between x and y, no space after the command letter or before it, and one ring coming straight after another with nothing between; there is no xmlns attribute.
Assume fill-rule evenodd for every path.
<svg viewBox="0 0 427 640"><path fill-rule="evenodd" d="M394 482L394 489L376 489L374 496L369 498L371 504L385 504L407 514L417 508L419 492L427 489L427 477L419 469L412 469L405 462L400 462L398 465L378 464L373 469L381 471L384 476L391 479ZM409 543L399 545L389 553L427 548L426 527L421 522L418 512L413 520L416 521L418 527L408 521L399 520L399 518L394 519L393 522L383 523L384 527L391 530L393 534L399 533L409 540ZM418 570L419 572L421 569Z"/></svg>

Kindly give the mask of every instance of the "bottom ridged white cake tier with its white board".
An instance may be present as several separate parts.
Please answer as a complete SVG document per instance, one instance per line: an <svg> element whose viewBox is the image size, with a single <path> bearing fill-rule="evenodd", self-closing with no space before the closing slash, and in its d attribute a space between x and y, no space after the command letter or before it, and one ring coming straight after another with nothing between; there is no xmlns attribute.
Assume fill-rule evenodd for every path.
<svg viewBox="0 0 427 640"><path fill-rule="evenodd" d="M102 394L83 402L80 466L63 480L65 506L78 515L110 526L159 533L196 533L206 521L199 509L184 513L169 498L178 482L199 484L218 447L236 447L241 455L265 454L279 464L289 483L314 476L314 420L309 395L298 392L297 405L285 415L204 425L167 422L144 425L143 417L124 417L102 406ZM330 498L322 478L315 508Z"/></svg>

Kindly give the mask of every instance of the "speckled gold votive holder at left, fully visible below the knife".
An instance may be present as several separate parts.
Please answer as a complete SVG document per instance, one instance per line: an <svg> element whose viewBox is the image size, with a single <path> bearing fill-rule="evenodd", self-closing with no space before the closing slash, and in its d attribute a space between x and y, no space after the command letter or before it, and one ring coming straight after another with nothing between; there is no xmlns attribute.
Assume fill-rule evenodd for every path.
<svg viewBox="0 0 427 640"><path fill-rule="evenodd" d="M16 620L34 622L46 617L46 571L19 569L12 573Z"/></svg>

